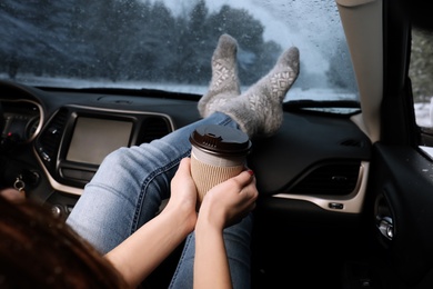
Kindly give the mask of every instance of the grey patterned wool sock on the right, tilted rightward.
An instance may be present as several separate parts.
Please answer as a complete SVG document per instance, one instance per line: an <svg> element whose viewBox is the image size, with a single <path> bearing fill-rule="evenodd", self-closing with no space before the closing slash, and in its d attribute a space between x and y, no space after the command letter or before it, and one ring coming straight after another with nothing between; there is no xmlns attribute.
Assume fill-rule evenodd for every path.
<svg viewBox="0 0 433 289"><path fill-rule="evenodd" d="M234 119L250 138L272 136L283 121L282 101L298 74L299 50L292 47L265 77L215 111Z"/></svg>

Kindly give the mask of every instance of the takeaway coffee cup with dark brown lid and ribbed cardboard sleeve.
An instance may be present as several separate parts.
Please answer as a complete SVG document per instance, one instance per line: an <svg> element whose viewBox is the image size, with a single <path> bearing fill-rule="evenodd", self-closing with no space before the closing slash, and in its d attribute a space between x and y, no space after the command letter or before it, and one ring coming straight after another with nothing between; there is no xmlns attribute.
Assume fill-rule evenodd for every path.
<svg viewBox="0 0 433 289"><path fill-rule="evenodd" d="M190 136L191 175L198 203L218 183L238 176L244 168L251 141L244 132L224 126L198 127Z"/></svg>

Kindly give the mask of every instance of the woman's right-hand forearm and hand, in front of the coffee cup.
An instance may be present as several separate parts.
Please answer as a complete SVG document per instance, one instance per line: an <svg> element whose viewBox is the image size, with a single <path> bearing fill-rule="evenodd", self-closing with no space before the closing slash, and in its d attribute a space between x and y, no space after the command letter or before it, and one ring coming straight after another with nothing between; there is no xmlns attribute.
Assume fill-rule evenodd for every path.
<svg viewBox="0 0 433 289"><path fill-rule="evenodd" d="M251 170L213 187L204 196L195 225L194 288L232 288L223 229L254 209L258 196Z"/></svg>

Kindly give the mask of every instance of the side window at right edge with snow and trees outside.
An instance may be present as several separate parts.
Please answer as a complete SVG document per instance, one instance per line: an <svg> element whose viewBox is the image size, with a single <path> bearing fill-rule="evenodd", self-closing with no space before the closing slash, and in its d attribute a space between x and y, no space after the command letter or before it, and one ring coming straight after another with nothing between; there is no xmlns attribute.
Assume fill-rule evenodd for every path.
<svg viewBox="0 0 433 289"><path fill-rule="evenodd" d="M412 29L409 76L412 81L416 124L433 129L433 32Z"/></svg>

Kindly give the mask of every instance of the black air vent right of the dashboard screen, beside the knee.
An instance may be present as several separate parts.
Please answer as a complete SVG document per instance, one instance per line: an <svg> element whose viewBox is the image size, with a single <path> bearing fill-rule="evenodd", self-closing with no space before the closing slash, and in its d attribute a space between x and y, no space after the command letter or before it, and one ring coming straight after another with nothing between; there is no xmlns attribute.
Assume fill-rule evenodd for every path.
<svg viewBox="0 0 433 289"><path fill-rule="evenodd" d="M162 117L149 117L141 127L139 134L139 143L151 142L154 139L160 139L171 132L170 122Z"/></svg>

